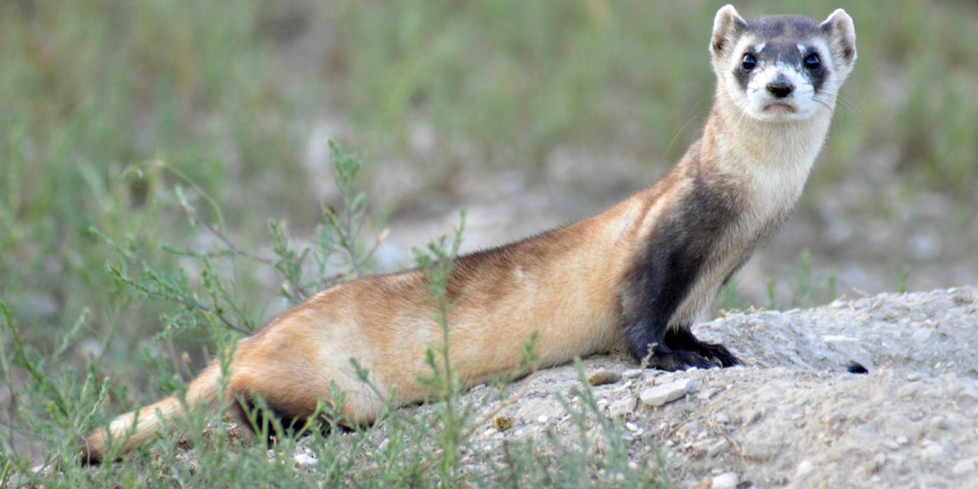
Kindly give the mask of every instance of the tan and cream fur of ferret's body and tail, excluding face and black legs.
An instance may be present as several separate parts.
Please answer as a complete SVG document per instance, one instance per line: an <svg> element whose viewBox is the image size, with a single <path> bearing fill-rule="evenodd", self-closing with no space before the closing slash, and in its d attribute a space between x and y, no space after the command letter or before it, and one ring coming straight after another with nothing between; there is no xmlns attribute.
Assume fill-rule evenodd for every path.
<svg viewBox="0 0 978 489"><path fill-rule="evenodd" d="M837 12L830 19L848 19L841 16ZM689 290L668 325L662 325L670 329L688 329L790 212L822 146L833 106L791 123L745 119L724 75L738 40L724 33L724 22L736 19L733 7L718 13L711 42L720 79L714 107L702 137L669 175L596 216L457 260L448 283L455 301L449 352L467 384L517 369L520 344L533 333L540 367L625 346L623 317L627 321L629 311L645 307L647 300L633 293L641 284L633 282L643 277L635 274L636 267L645 266L642 260L655 251L649 244L675 232L669 228L676 224L673 218L683 215L684 206L704 189L731 217L720 222L715 234L697 238L710 242L703 248L708 252L693 257L697 267ZM679 228L681 234L687 231L702 233ZM334 381L347 394L341 407L345 422L371 422L384 403L357 379L351 359L368 369L379 392L394 388L397 405L424 400L429 395L419 381L428 372L424 353L442 340L430 319L425 281L422 271L409 270L318 293L239 342L226 391L215 392L219 370L212 365L191 384L187 404L211 404L218 396L236 402L259 394L277 413L300 418L309 416L319 400L330 402ZM164 399L143 408L135 428L132 414L114 420L112 438L122 440L134 432L123 447L127 451L146 441L164 418L181 414L179 402ZM84 458L100 461L107 441L105 430L93 432Z"/></svg>

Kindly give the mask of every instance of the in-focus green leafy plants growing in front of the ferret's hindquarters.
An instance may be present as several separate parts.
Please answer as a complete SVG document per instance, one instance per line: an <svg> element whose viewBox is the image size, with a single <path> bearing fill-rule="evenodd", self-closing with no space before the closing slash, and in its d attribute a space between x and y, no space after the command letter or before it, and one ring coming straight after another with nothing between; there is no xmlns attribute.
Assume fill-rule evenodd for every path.
<svg viewBox="0 0 978 489"><path fill-rule="evenodd" d="M202 250L160 244L165 253L180 258L180 266L156 266L141 257L142 250L134 240L117 240L97 228L92 230L93 236L116 253L116 260L108 264L107 271L119 286L138 300L165 304L163 328L143 348L146 364L155 372L153 377L161 393L176 392L182 397L186 384L180 371L189 368L186 364L190 360L172 348L155 346L167 345L179 333L202 332L213 343L226 378L235 341L260 324L260 316L244 307L235 293L242 274L240 261L276 271L282 298L288 303L300 301L343 278L356 278L371 271L370 257L380 240L365 236L367 198L356 186L360 162L332 141L329 147L340 203L335 208L324 208L324 222L308 244L293 244L285 226L273 222L269 227L271 255L244 249L229 237L216 202L183 175L180 184L173 188L174 196L190 223L213 241ZM211 207L211 219L203 217L198 200ZM332 402L321 402L313 419L303 425L282 425L270 416L259 398L256 407L246 414L257 432L255 439L275 440L270 451L263 443L246 441L241 436L242 427L233 427L226 420L227 406L219 405L215 412L188 408L185 418L167 422L163 431L172 430L171 436L160 437L120 462L81 467L80 437L139 403L128 398L125 378L101 375L97 358L85 371L61 368L59 357L85 329L87 312L77 318L58 347L42 352L22 341L22 325L8 304L0 301L0 339L12 345L0 349L0 369L3 385L14 394L10 405L4 406L6 429L0 445L4 447L0 449L0 486L458 487L477 483L663 487L667 483L663 452L649 439L645 443L653 450L630 458L621 423L601 412L580 364L580 385L560 397L578 430L576 442L551 433L543 444L532 440L507 442L501 448L502 454L480 451L472 445L476 430L485 429L492 416L518 400L521 391L511 381L531 373L536 358L535 338L528 338L522 345L514 344L513 347L522 348L519 369L491 382L491 394L483 399L486 404L464 400L467 386L457 377L451 362L453 304L447 293L464 228L465 213L452 234L415 249L416 264L427 277L431 321L442 331L441 342L427 350L429 373L421 378L431 392L428 405L422 409L395 409L390 401L392 393L375 388L387 406L378 421L344 431L338 424L344 393L335 384L330 388ZM353 366L362 381L367 382L368 373L356 361ZM123 441L112 440L111 447L118 447ZM41 447L40 459L28 458L26 444ZM111 460L115 453L110 448L107 459ZM297 467L296 454L315 462ZM559 468L554 466L556 461L562 461ZM568 461L572 463L566 464Z"/></svg>

